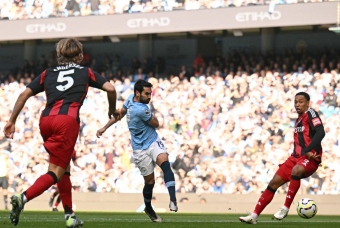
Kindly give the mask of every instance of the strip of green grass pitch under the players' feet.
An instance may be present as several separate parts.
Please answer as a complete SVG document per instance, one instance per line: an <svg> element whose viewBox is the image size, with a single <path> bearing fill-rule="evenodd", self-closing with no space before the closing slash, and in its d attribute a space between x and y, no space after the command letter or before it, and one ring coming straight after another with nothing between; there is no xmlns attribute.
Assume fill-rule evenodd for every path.
<svg viewBox="0 0 340 228"><path fill-rule="evenodd" d="M239 222L236 214L159 214L163 223L152 223L144 213L98 213L77 212L78 218L84 221L84 228L144 228L144 227L249 227ZM284 221L273 221L271 216L262 215L255 227L266 228L336 228L340 227L340 218L336 216L318 216L305 220L298 216L288 216ZM9 211L0 211L0 227L14 227L9 222ZM23 211L18 228L59 228L65 227L62 212Z"/></svg>

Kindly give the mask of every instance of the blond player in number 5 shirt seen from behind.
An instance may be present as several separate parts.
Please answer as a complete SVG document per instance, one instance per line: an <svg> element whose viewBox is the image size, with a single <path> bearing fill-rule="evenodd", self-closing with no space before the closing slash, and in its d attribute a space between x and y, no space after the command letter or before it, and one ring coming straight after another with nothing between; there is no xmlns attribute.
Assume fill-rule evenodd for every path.
<svg viewBox="0 0 340 228"><path fill-rule="evenodd" d="M40 176L25 192L11 197L10 221L15 226L19 222L24 205L55 183L58 183L66 227L83 225L72 210L69 165L79 133L79 109L88 87L107 92L109 117L117 116L119 113L116 110L117 95L114 86L90 68L79 65L83 59L83 47L79 41L71 38L62 39L57 43L56 51L59 66L46 69L19 95L4 128L5 136L13 138L15 122L26 101L31 96L45 91L47 103L41 114L39 127L44 147L49 153L49 166L47 173Z"/></svg>

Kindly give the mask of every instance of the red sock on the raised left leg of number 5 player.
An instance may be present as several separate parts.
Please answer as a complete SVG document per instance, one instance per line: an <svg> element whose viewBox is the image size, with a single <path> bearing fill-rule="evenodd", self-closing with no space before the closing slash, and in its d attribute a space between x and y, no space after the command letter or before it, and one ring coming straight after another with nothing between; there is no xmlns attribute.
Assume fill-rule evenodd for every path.
<svg viewBox="0 0 340 228"><path fill-rule="evenodd" d="M37 196L40 196L43 192L45 192L49 187L51 187L56 182L57 176L53 172L48 172L40 176L34 182L34 184L24 192L27 198L27 202L34 199Z"/></svg>

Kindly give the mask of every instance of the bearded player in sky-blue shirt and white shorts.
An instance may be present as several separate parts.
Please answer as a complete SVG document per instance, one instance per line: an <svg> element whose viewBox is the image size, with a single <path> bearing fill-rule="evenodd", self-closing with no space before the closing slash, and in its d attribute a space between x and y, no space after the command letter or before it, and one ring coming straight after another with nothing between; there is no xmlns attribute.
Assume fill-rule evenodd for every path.
<svg viewBox="0 0 340 228"><path fill-rule="evenodd" d="M145 181L143 188L144 211L153 222L162 222L162 219L151 206L152 190L155 185L154 169L156 164L161 167L164 173L165 185L170 195L170 210L177 212L178 207L176 202L175 177L170 168L168 153L156 132L159 123L147 106L151 100L151 88L151 83L145 80L138 80L134 85L134 94L128 97L120 110L120 117L112 118L103 128L99 129L97 131L97 137L100 137L107 128L126 115L131 134L133 158Z"/></svg>

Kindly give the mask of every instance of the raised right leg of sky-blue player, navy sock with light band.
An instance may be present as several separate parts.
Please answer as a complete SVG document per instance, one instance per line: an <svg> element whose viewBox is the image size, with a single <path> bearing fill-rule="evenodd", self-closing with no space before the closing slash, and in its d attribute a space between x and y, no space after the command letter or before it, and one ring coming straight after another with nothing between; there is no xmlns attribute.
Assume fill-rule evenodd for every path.
<svg viewBox="0 0 340 228"><path fill-rule="evenodd" d="M178 211L177 200L176 200L176 188L175 188L175 175L171 170L170 163L168 160L167 153L161 153L157 156L157 165L161 167L164 175L164 182L169 191L170 204L169 208L171 211Z"/></svg>

